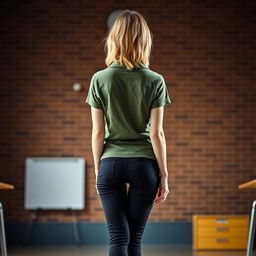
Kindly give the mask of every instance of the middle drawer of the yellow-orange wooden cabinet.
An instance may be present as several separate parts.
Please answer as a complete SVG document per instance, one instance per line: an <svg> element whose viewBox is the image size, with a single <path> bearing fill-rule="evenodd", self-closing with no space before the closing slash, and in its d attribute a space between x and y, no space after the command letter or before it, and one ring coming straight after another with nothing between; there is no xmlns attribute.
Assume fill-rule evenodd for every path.
<svg viewBox="0 0 256 256"><path fill-rule="evenodd" d="M200 226L197 228L197 237L244 237L247 238L248 226Z"/></svg>

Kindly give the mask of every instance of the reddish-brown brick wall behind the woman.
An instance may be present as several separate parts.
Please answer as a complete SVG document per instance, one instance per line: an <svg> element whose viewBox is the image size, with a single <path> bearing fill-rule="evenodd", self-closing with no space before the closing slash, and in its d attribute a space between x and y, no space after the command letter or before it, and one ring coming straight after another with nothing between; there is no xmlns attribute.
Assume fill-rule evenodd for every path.
<svg viewBox="0 0 256 256"><path fill-rule="evenodd" d="M24 161L87 161L87 206L79 221L104 221L94 187L90 106L94 72L105 68L102 39L112 10L135 9L153 33L150 68L162 74L170 194L152 221L192 214L248 214L255 178L255 6L249 1L4 1L1 5L0 191L7 221L27 221ZM80 82L85 90L73 92ZM255 193L254 193L255 194ZM39 211L40 221L71 221Z"/></svg>

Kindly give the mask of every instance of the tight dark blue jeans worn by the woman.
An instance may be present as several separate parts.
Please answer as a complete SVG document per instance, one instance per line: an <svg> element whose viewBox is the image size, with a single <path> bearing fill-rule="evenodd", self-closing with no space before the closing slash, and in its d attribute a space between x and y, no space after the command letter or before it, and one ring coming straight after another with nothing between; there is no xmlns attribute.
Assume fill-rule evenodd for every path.
<svg viewBox="0 0 256 256"><path fill-rule="evenodd" d="M96 185L109 232L109 256L141 256L141 239L159 174L157 161L147 157L107 157L100 161Z"/></svg>

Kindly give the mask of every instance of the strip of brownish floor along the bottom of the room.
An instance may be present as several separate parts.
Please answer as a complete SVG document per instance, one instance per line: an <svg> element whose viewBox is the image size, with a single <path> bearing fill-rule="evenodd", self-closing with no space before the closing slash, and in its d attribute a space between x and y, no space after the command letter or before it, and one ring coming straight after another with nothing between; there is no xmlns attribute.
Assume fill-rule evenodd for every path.
<svg viewBox="0 0 256 256"><path fill-rule="evenodd" d="M193 251L191 247L143 245L143 256L245 256L246 251ZM8 256L108 256L106 246L27 246L8 248Z"/></svg>

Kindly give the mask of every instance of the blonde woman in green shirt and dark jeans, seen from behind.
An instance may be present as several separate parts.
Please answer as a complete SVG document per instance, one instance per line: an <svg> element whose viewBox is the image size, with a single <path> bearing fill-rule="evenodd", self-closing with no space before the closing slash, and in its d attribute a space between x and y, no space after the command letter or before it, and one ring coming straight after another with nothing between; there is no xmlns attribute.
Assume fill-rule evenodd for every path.
<svg viewBox="0 0 256 256"><path fill-rule="evenodd" d="M148 67L152 35L138 12L123 11L106 39L108 67L94 73L86 98L96 190L109 255L139 256L153 204L169 193L162 126L163 106L171 100L162 75Z"/></svg>

